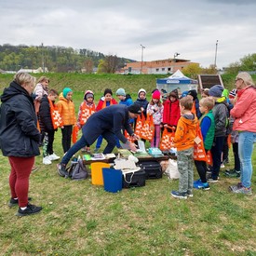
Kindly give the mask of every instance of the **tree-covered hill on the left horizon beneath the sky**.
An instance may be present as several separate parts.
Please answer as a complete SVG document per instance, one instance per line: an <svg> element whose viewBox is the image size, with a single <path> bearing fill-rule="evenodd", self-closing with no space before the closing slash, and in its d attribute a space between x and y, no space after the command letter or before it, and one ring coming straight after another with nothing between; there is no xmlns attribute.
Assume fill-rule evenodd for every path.
<svg viewBox="0 0 256 256"><path fill-rule="evenodd" d="M83 72L93 73L98 67L98 73L115 73L132 60L114 55L104 55L90 49L74 49L73 47L56 46L11 46L0 45L0 69L4 71L19 71L24 69L47 68L49 72Z"/></svg>

